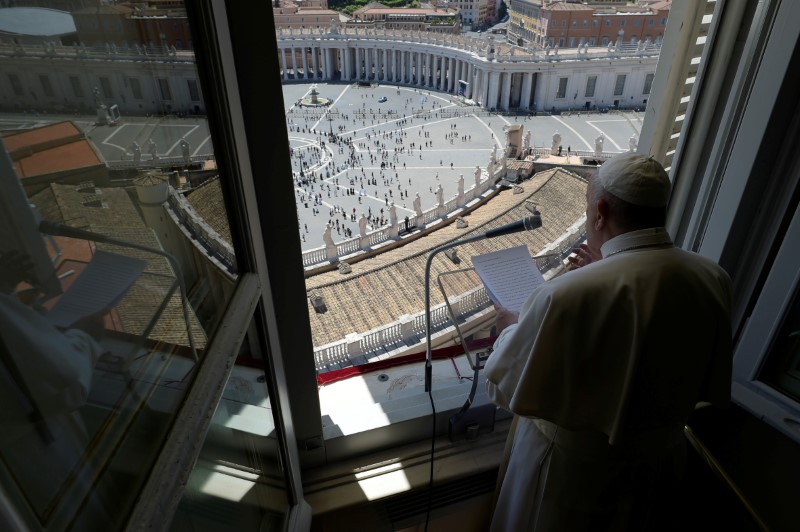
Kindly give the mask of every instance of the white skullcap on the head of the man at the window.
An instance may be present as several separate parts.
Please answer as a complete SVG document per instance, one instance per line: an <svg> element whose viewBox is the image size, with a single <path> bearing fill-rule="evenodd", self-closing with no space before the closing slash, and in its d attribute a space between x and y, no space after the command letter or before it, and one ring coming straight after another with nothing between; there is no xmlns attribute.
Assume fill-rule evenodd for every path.
<svg viewBox="0 0 800 532"><path fill-rule="evenodd" d="M665 207L671 184L661 164L639 153L621 153L597 171L600 185L621 200L642 207Z"/></svg>

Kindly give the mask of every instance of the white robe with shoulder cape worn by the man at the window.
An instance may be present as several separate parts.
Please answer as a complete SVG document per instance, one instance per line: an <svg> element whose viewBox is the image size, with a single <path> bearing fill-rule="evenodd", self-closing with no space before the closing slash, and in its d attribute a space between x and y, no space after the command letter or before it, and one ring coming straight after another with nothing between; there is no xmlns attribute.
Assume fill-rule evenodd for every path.
<svg viewBox="0 0 800 532"><path fill-rule="evenodd" d="M663 228L601 252L538 287L487 361L489 397L516 414L493 531L655 528L689 414L730 400L728 274Z"/></svg>

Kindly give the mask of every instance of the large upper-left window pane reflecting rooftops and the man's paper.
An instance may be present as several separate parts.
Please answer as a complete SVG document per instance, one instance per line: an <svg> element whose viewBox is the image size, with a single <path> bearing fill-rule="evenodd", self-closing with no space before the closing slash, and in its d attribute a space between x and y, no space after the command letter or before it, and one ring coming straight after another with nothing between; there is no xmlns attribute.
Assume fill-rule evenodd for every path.
<svg viewBox="0 0 800 532"><path fill-rule="evenodd" d="M113 530L238 269L182 4L72 4L0 50L0 482L31 529Z"/></svg>

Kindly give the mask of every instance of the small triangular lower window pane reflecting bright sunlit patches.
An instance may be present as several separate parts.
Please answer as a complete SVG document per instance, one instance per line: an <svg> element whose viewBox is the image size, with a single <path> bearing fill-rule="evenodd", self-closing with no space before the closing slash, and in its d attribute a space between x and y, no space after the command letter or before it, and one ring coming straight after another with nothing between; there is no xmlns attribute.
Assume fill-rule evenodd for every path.
<svg viewBox="0 0 800 532"><path fill-rule="evenodd" d="M252 330L252 328L251 328ZM289 506L255 335L245 339L171 530L282 530Z"/></svg>

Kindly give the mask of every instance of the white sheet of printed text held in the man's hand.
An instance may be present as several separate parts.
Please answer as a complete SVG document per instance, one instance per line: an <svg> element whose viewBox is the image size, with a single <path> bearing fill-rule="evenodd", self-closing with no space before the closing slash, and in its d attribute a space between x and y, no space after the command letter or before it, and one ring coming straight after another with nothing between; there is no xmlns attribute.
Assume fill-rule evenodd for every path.
<svg viewBox="0 0 800 532"><path fill-rule="evenodd" d="M476 255L472 265L492 301L513 312L519 312L533 289L544 282L524 245Z"/></svg>

